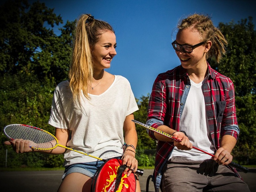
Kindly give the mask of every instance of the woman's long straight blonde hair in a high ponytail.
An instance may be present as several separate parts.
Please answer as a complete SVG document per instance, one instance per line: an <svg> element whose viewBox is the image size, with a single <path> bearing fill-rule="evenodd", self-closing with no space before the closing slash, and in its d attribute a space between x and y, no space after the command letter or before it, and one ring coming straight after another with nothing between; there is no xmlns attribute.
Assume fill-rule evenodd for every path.
<svg viewBox="0 0 256 192"><path fill-rule="evenodd" d="M76 21L69 69L69 86L74 100L80 101L81 90L83 95L90 99L87 89L88 82L92 81L94 72L92 50L100 35L106 31L114 32L108 23L96 20L90 14L82 14Z"/></svg>

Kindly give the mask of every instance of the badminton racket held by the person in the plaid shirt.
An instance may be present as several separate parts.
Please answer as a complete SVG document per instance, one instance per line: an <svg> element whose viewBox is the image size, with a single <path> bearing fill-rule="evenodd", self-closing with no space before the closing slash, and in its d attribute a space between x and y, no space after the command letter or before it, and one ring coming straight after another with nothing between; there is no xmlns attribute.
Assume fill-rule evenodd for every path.
<svg viewBox="0 0 256 192"><path fill-rule="evenodd" d="M161 135L163 135L163 136L165 136L165 137L171 138L171 139L173 139L173 140L175 140L175 141L177 141L177 142L181 142L181 140L177 139L176 137L173 137L172 135L169 135L169 134L167 134L167 133L164 133L164 132L162 132L162 131L160 131L160 130L158 130L158 129L156 129L156 128L150 127L150 126L148 126L148 125L146 125L146 124L144 124L144 123L141 123L141 122L139 122L139 121L136 121L136 120L134 120L134 119L132 119L132 121L133 121L134 123L138 124L138 125L141 125L141 126L147 128L147 129L149 129L149 130L152 130L152 131L156 132L156 133L159 133L159 134L161 134ZM198 150L198 151L201 151L201 152L203 152L203 153L205 153L205 154L208 154L208 155L214 157L213 154L207 153L206 151L203 151L203 150L201 150L201 149L198 149L197 147L194 147L194 146L193 146L193 148L196 149L196 150ZM228 165L230 165L230 166L232 166L232 167L234 167L234 168L240 169L240 170L243 171L244 173L247 173L247 172L249 171L249 169L248 169L247 167L244 167L244 166L239 165L239 164L234 163L234 162L230 162Z"/></svg>

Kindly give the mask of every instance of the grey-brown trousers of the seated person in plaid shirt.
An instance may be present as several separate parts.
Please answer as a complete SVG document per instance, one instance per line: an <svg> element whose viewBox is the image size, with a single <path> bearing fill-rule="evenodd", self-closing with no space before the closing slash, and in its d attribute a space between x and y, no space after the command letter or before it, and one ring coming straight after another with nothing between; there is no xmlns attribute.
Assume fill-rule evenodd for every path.
<svg viewBox="0 0 256 192"><path fill-rule="evenodd" d="M250 191L233 171L214 160L194 161L172 157L163 167L162 192Z"/></svg>

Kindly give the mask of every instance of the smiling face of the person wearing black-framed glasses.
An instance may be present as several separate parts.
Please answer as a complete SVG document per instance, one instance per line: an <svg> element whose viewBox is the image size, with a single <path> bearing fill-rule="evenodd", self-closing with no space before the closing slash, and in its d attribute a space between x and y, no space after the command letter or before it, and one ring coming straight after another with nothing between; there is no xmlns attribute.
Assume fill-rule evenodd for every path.
<svg viewBox="0 0 256 192"><path fill-rule="evenodd" d="M196 45L198 43L202 42L202 39L200 38L200 34L198 31L192 31L191 29L182 29L179 30L176 36L176 40L178 44L181 45ZM179 51L176 51L177 56L180 59L181 65L185 69L197 69L201 67L202 65L207 64L206 62L206 53L209 51L207 46L205 46L205 43L193 48L193 51L191 53L187 53L181 48ZM210 45L211 46L211 45Z"/></svg>

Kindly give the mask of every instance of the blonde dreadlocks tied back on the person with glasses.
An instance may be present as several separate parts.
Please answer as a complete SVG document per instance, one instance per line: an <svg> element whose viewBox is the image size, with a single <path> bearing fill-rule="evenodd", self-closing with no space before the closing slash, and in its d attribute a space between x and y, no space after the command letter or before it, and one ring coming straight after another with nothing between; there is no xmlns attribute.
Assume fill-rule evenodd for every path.
<svg viewBox="0 0 256 192"><path fill-rule="evenodd" d="M225 45L227 45L227 41L222 32L213 25L211 18L205 15L193 14L178 24L179 30L186 28L198 31L202 41L212 41L206 59L213 58L219 63L226 53Z"/></svg>

